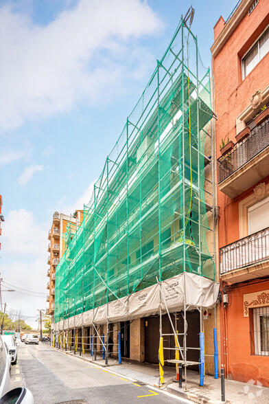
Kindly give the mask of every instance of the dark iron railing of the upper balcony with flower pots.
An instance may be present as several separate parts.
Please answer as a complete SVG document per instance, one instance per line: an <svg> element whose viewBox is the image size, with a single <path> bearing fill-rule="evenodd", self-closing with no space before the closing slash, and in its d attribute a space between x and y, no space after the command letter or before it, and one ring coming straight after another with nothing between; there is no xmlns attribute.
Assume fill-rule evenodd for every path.
<svg viewBox="0 0 269 404"><path fill-rule="evenodd" d="M269 120L255 126L250 135L233 150L218 159L218 183L230 177L233 172L244 166L269 145Z"/></svg>

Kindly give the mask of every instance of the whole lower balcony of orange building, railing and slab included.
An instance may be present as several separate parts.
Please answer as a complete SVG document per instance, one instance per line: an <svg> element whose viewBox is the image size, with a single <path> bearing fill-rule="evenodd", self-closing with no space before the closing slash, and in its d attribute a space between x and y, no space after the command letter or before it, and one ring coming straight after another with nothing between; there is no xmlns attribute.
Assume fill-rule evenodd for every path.
<svg viewBox="0 0 269 404"><path fill-rule="evenodd" d="M269 274L269 227L220 249L220 276L231 283Z"/></svg>

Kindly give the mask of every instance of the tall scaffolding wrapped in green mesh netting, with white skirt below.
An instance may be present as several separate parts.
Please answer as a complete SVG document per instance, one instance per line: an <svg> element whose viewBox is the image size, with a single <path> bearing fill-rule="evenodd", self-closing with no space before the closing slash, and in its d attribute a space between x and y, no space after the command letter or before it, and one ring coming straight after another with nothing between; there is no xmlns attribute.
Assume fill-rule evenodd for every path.
<svg viewBox="0 0 269 404"><path fill-rule="evenodd" d="M210 71L181 18L106 158L82 224L67 235L56 267L55 330L106 323L108 330L111 319L143 317L130 306L145 289L159 296L150 314L215 304L212 116ZM183 287L176 310L159 288L175 278ZM210 302L186 300L192 279L213 291ZM183 351L186 363L186 344Z"/></svg>

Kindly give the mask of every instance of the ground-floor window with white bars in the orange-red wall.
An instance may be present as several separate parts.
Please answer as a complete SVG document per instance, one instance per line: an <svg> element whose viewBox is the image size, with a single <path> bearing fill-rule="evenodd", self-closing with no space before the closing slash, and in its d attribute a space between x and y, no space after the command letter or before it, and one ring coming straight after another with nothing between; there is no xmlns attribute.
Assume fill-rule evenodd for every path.
<svg viewBox="0 0 269 404"><path fill-rule="evenodd" d="M252 355L269 356L269 307L253 308Z"/></svg>

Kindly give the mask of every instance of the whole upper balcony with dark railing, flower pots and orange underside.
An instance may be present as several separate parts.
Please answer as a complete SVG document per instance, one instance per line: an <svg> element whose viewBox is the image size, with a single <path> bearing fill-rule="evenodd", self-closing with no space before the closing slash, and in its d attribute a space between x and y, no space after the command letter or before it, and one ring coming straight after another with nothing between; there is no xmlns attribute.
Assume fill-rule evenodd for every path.
<svg viewBox="0 0 269 404"><path fill-rule="evenodd" d="M219 188L235 198L269 175L269 120L255 126L230 153L218 159Z"/></svg>

